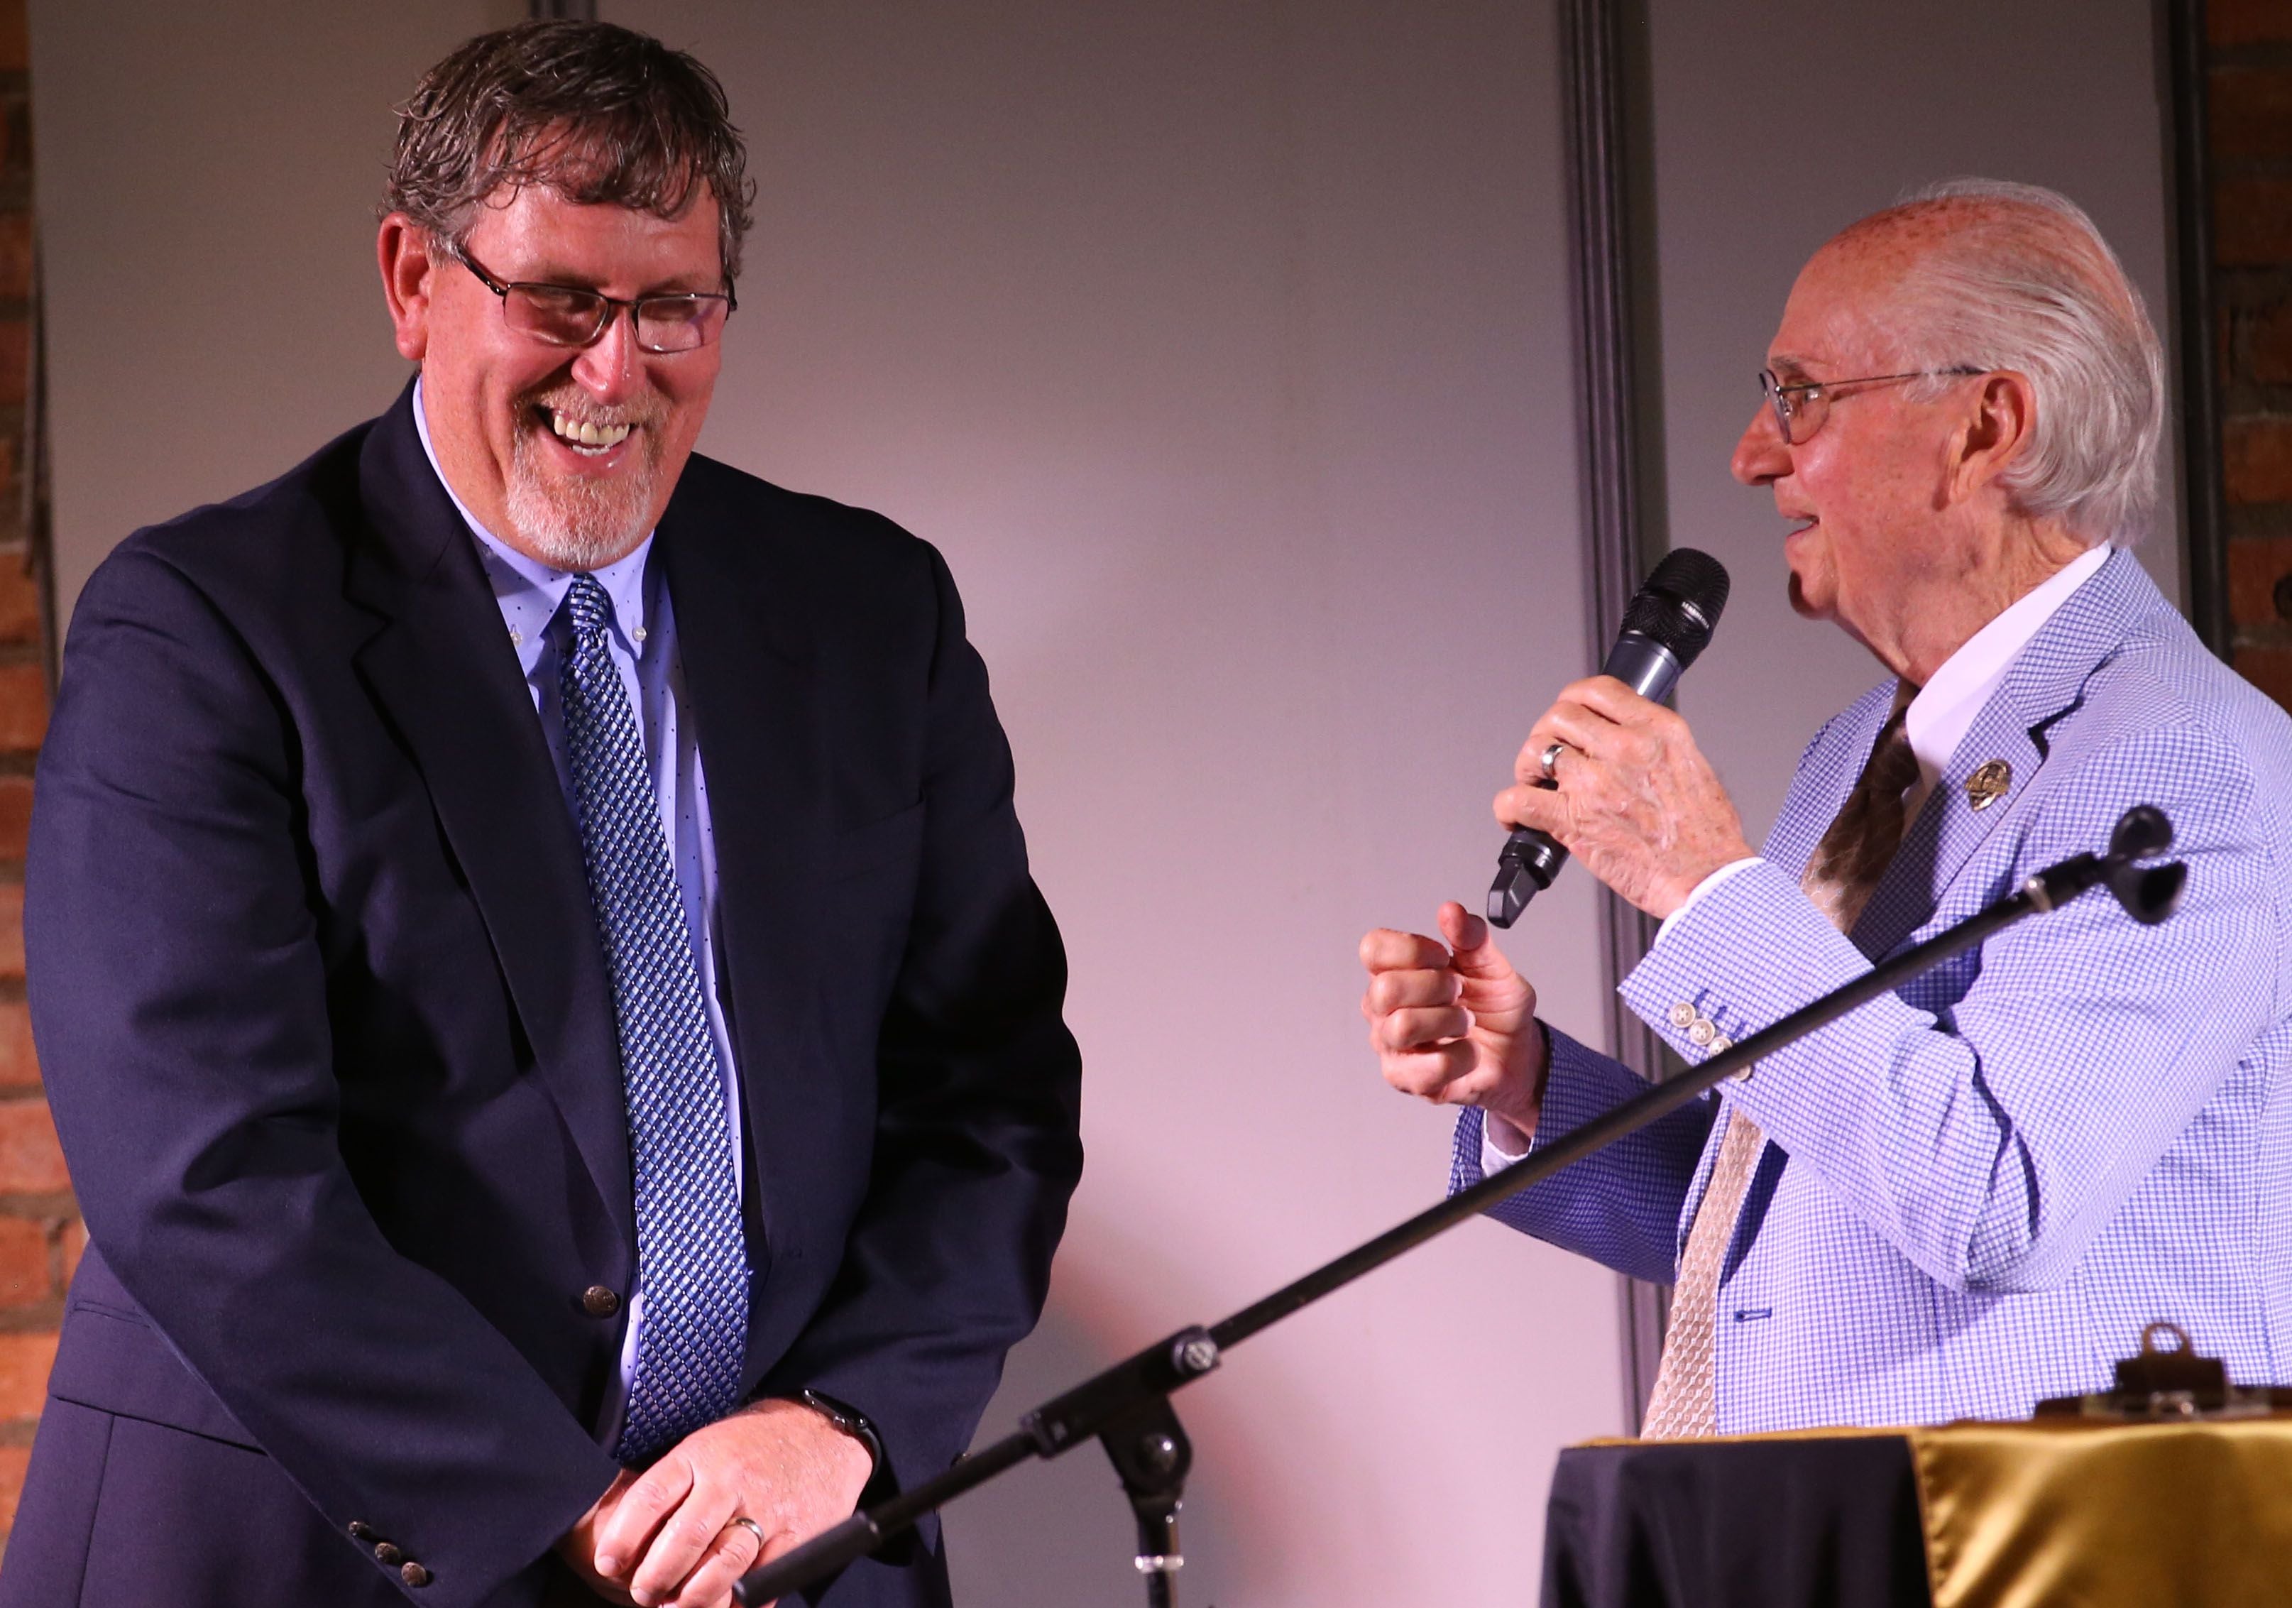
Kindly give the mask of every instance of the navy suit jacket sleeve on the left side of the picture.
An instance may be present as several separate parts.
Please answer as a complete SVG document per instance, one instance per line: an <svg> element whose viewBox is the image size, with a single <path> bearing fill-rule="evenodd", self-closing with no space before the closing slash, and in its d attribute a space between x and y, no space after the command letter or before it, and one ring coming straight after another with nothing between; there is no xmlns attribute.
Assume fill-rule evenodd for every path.
<svg viewBox="0 0 2292 1608"><path fill-rule="evenodd" d="M32 1025L103 1262L344 1546L362 1521L429 1569L410 1601L474 1606L614 1463L353 1186L296 766L241 638L124 546L39 759Z"/></svg>

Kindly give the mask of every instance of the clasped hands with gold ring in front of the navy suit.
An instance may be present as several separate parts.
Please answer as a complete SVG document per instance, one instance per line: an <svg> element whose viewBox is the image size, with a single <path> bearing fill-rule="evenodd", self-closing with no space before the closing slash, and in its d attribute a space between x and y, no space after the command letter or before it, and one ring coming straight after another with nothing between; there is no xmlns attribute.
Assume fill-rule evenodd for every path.
<svg viewBox="0 0 2292 1608"><path fill-rule="evenodd" d="M821 1413L759 1402L623 1470L557 1553L607 1601L724 1608L759 1562L850 1519L871 1473L869 1450Z"/></svg>

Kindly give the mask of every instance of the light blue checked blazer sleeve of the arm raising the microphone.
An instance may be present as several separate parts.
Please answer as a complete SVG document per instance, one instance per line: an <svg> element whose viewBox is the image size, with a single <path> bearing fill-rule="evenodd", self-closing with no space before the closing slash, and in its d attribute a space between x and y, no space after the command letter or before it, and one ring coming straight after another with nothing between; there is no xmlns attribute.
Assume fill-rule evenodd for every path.
<svg viewBox="0 0 2292 1608"><path fill-rule="evenodd" d="M2143 798L2189 865L2168 922L2088 892L1967 957L1944 1014L1886 996L1730 1085L1792 1165L1948 1289L2067 1280L2281 1009L2278 844L2219 734L2184 720L2106 743L2033 805L2015 874L2106 842ZM1788 872L1758 865L1701 899L1625 998L1694 1060L1673 1000L1742 1037L1868 970Z"/></svg>

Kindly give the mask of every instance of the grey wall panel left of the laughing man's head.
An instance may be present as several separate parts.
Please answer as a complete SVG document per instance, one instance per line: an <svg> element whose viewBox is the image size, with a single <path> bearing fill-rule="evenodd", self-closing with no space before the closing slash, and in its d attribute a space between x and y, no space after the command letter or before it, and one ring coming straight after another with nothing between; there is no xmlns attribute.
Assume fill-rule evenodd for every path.
<svg viewBox="0 0 2292 1608"><path fill-rule="evenodd" d="M516 0L30 0L57 610L390 404L392 103Z"/></svg>

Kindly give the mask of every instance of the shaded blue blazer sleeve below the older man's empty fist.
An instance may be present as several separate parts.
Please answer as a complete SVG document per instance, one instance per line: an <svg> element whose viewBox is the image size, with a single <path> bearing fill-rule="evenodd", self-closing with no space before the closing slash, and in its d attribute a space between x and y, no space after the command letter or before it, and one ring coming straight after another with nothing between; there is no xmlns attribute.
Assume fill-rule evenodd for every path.
<svg viewBox="0 0 2292 1608"><path fill-rule="evenodd" d="M1565 1032L1545 1028L1545 1037L1552 1041L1552 1071L1545 1076L1531 1156L1648 1090L1636 1071ZM1488 1216L1618 1273L1669 1285L1678 1269L1680 1211L1710 1126L1712 1101L1682 1106L1497 1202ZM1451 1195L1481 1181L1483 1133L1483 1113L1465 1110L1458 1117Z"/></svg>

